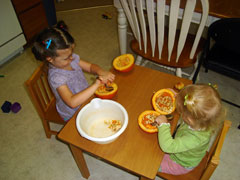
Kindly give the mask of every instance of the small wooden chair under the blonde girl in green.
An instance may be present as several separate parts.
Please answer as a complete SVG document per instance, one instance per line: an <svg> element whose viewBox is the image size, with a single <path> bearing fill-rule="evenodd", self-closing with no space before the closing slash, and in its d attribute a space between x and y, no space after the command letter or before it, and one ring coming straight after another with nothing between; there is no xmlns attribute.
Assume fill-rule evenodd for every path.
<svg viewBox="0 0 240 180"><path fill-rule="evenodd" d="M183 175L171 175L158 172L157 176L169 180L208 180L217 168L220 161L220 153L223 146L226 134L231 127L232 122L225 120L222 129L218 132L215 141L213 142L209 152L191 172Z"/></svg>

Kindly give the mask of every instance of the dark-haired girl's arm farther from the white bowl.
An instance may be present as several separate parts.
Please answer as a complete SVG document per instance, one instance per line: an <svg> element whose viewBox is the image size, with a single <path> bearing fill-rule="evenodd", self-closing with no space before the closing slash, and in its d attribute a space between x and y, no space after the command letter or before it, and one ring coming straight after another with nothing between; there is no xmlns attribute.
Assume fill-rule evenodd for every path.
<svg viewBox="0 0 240 180"><path fill-rule="evenodd" d="M84 60L79 61L79 66L84 70L92 74L97 74L99 76L99 79L105 84L108 81L113 82L115 79L115 75L112 74L109 71L103 70L101 67L99 67L96 64L91 64L89 62L86 62Z"/></svg>

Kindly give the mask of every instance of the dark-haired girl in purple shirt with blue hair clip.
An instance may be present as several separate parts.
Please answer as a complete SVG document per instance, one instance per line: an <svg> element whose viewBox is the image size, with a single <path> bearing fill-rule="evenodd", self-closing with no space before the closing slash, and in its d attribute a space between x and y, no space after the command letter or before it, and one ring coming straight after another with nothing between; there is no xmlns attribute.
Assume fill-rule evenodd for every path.
<svg viewBox="0 0 240 180"><path fill-rule="evenodd" d="M82 103L89 99L101 83L113 82L115 75L96 64L81 60L73 53L74 39L60 21L56 27L43 30L34 42L32 52L37 60L49 64L48 82L56 97L60 116L69 120ZM83 71L99 79L88 85Z"/></svg>

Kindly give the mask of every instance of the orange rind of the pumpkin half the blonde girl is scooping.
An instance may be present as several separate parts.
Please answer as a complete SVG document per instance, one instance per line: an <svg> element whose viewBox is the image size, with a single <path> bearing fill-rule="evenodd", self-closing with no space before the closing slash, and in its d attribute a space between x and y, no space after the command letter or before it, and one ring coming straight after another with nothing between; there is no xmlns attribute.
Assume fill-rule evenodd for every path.
<svg viewBox="0 0 240 180"><path fill-rule="evenodd" d="M148 114L154 114L156 116L160 116L160 113L157 111L153 111L153 110L144 111L138 116L138 125L143 131L145 131L147 133L156 133L156 132L158 132L158 128L156 126L152 126L150 124L144 125L144 123L143 123L144 116L146 116Z"/></svg>

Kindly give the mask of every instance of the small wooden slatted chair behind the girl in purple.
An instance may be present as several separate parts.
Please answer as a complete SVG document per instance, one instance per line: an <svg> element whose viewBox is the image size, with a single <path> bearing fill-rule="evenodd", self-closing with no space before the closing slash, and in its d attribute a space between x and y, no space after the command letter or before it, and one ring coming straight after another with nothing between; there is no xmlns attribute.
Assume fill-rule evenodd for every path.
<svg viewBox="0 0 240 180"><path fill-rule="evenodd" d="M50 129L50 122L65 124L56 110L56 99L47 80L47 70L42 63L25 82L32 103L40 116L47 138L58 132Z"/></svg>

